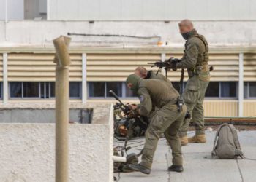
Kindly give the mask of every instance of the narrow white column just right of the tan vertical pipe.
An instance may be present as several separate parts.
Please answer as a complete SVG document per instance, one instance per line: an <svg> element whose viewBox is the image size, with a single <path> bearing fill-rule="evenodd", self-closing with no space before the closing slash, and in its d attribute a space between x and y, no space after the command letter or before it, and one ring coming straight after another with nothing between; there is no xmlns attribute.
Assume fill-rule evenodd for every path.
<svg viewBox="0 0 256 182"><path fill-rule="evenodd" d="M87 57L86 53L82 55L82 103L86 104L87 101Z"/></svg>

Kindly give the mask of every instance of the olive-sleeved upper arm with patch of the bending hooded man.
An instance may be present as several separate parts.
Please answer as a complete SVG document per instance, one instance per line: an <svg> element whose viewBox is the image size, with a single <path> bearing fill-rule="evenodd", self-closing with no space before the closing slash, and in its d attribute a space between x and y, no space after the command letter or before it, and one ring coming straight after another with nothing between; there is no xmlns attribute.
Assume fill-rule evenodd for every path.
<svg viewBox="0 0 256 182"><path fill-rule="evenodd" d="M146 88L140 88L140 90L138 90L138 96L140 100L138 112L142 116L148 116L152 110L152 101L148 90L146 90Z"/></svg>

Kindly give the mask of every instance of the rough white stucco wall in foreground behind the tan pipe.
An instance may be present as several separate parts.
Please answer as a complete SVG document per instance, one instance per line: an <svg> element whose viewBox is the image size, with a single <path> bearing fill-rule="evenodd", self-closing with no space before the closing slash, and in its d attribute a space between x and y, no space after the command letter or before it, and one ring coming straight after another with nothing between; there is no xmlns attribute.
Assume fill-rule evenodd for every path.
<svg viewBox="0 0 256 182"><path fill-rule="evenodd" d="M0 124L0 181L51 182L54 124ZM113 125L69 125L69 181L113 181Z"/></svg>

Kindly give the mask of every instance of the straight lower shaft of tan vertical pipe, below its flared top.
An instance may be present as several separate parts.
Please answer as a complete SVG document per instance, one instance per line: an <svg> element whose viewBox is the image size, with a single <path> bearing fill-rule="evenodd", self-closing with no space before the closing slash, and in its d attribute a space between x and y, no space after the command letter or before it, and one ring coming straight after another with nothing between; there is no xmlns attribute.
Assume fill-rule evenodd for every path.
<svg viewBox="0 0 256 182"><path fill-rule="evenodd" d="M68 181L69 68L56 66L56 182Z"/></svg>

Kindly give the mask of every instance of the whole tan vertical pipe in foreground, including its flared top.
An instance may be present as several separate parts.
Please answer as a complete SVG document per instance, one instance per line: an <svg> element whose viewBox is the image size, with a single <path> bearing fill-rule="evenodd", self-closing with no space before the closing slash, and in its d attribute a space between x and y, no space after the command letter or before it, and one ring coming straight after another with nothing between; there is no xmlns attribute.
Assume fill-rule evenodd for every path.
<svg viewBox="0 0 256 182"><path fill-rule="evenodd" d="M56 49L56 182L67 182L68 173L68 126L69 126L69 65L68 37L53 40Z"/></svg>

